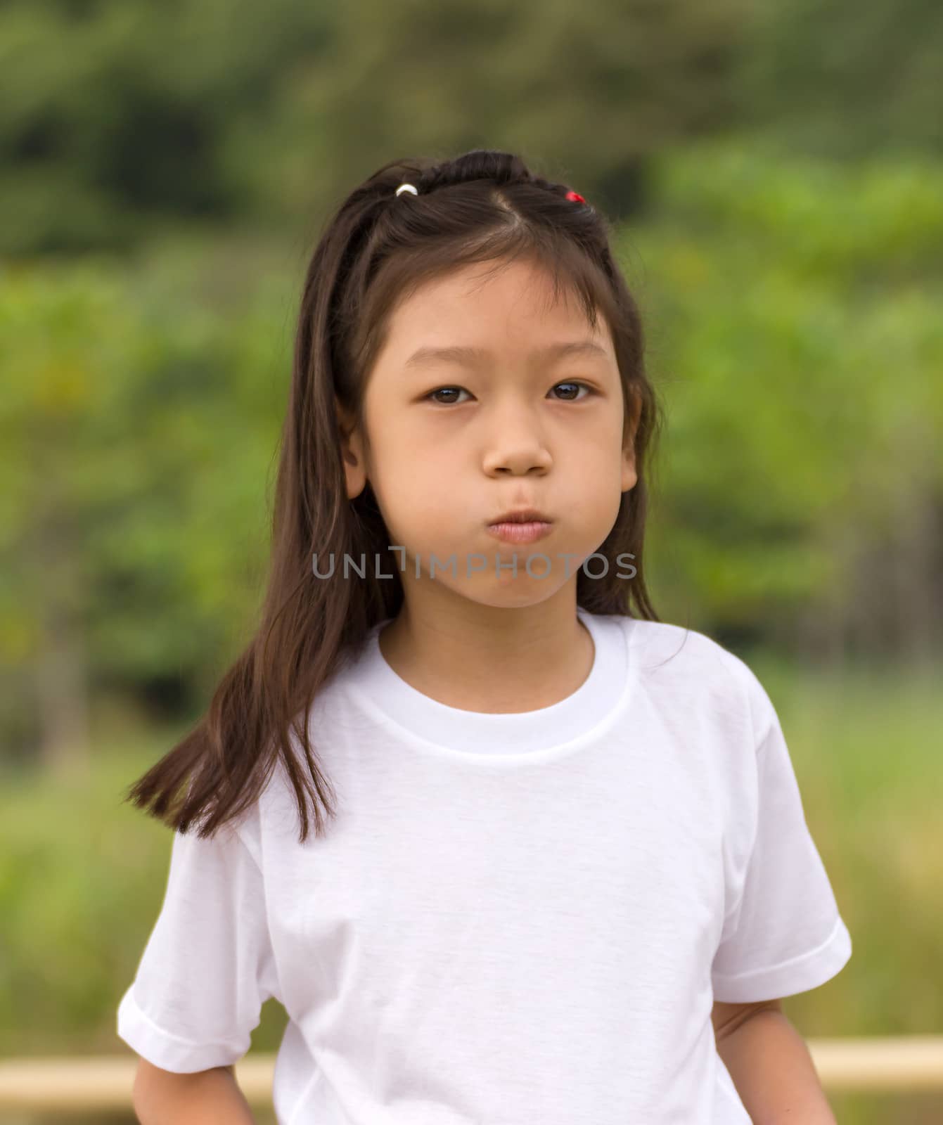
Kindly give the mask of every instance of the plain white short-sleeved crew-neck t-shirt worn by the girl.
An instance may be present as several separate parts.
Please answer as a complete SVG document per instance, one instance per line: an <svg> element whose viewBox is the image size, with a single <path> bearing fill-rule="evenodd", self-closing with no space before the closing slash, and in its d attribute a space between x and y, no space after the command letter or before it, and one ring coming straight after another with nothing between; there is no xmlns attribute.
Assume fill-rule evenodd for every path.
<svg viewBox="0 0 943 1125"><path fill-rule="evenodd" d="M703 633L580 610L553 706L446 706L376 626L320 693L339 811L298 843L282 767L251 814L174 834L118 1035L227 1065L276 997L279 1125L748 1125L711 1006L851 957L773 705Z"/></svg>

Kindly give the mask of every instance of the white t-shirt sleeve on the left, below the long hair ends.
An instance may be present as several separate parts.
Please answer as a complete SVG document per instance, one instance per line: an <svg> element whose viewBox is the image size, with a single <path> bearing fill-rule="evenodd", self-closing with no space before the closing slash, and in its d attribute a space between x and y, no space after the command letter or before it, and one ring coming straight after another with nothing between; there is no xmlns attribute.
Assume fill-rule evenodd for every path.
<svg viewBox="0 0 943 1125"><path fill-rule="evenodd" d="M278 993L262 875L227 822L173 835L163 906L117 1011L118 1037L163 1070L227 1066Z"/></svg>

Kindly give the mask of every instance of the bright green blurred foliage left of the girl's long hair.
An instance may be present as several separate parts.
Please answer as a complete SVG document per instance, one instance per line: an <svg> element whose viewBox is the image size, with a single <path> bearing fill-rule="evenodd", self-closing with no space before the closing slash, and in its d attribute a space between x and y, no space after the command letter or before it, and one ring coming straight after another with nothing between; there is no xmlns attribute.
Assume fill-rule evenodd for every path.
<svg viewBox="0 0 943 1125"><path fill-rule="evenodd" d="M57 773L84 763L93 696L205 696L264 564L279 322L259 289L233 323L146 284L0 274L2 718Z"/></svg>

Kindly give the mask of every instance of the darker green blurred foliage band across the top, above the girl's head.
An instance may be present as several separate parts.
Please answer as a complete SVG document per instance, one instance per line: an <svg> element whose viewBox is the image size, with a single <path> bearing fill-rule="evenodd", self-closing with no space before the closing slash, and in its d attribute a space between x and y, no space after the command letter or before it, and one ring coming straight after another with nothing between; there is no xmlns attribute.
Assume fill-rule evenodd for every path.
<svg viewBox="0 0 943 1125"><path fill-rule="evenodd" d="M168 220L296 228L384 159L554 154L619 217L647 159L943 150L934 0L6 0L0 252L131 248Z"/></svg>

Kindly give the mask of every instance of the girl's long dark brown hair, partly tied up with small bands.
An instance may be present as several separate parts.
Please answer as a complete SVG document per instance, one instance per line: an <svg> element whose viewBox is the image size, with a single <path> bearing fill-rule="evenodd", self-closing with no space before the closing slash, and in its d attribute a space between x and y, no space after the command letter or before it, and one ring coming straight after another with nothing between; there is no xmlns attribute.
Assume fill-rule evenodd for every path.
<svg viewBox="0 0 943 1125"><path fill-rule="evenodd" d="M417 195L396 195L402 182ZM396 303L421 284L473 264L521 255L575 292L591 324L602 312L612 333L627 426L638 411L638 482L622 494L600 554L628 555L636 574L577 572L577 603L592 613L657 621L643 567L649 454L663 410L644 363L638 306L613 260L610 225L567 187L535 176L511 153L475 150L453 160L385 164L341 204L314 250L302 294L288 411L281 434L269 575L258 629L223 676L209 709L186 738L125 796L173 829L198 821L208 837L260 795L279 764L295 791L299 842L333 816L331 785L313 756L309 709L377 622L403 600L397 556L369 484L348 500L338 405L362 421L363 392ZM628 430L627 430L628 432ZM313 557L350 555L386 566L347 580L318 577ZM322 562L318 561L318 574ZM593 568L596 574L596 568ZM291 732L297 741L291 738ZM304 763L295 752L299 745ZM306 798L311 800L308 809Z"/></svg>

